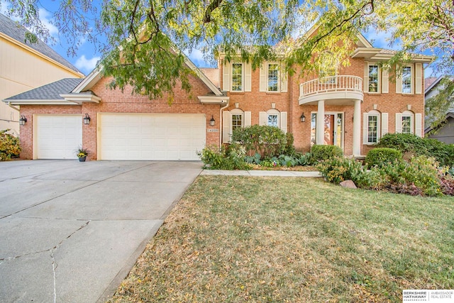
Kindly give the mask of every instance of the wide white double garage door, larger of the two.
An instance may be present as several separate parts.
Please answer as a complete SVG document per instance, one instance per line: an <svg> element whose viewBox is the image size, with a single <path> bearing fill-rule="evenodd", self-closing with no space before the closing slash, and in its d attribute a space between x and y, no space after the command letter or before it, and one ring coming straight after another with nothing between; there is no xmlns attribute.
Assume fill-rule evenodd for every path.
<svg viewBox="0 0 454 303"><path fill-rule="evenodd" d="M101 160L200 160L204 114L99 114Z"/></svg>

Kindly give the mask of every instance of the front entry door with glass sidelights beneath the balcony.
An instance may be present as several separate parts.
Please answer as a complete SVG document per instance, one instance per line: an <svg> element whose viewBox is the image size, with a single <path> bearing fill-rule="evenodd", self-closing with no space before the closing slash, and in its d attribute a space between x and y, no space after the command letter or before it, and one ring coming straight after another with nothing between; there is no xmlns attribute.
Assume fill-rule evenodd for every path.
<svg viewBox="0 0 454 303"><path fill-rule="evenodd" d="M311 145L316 138L316 113L311 114ZM328 113L324 119L324 144L343 148L343 113Z"/></svg>

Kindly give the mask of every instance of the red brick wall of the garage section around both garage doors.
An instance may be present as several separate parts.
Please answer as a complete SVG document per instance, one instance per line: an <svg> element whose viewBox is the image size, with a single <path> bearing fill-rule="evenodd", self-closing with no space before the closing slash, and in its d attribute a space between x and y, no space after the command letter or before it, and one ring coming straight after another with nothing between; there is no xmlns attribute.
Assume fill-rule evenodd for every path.
<svg viewBox="0 0 454 303"><path fill-rule="evenodd" d="M131 87L124 89L123 93L118 89L109 89L107 87L109 79L100 79L92 87L94 94L101 97L99 104L83 103L81 106L23 105L21 106L21 114L26 115L28 122L21 127L21 158L33 158L33 114L89 114L91 118L89 125L82 125L82 145L92 151L92 153L89 153L88 160L96 160L96 118L98 113L206 114L206 129L218 129L216 133L206 133L206 144L219 145L219 133L221 131L219 123L221 121L219 116L220 106L216 104L201 104L197 96L206 95L210 90L198 78L192 77L190 81L192 91L189 94L179 89L181 85L177 84L172 104L168 103L169 99L166 94L162 98L150 100L146 96L131 94ZM209 126L211 115L216 120L215 126Z"/></svg>

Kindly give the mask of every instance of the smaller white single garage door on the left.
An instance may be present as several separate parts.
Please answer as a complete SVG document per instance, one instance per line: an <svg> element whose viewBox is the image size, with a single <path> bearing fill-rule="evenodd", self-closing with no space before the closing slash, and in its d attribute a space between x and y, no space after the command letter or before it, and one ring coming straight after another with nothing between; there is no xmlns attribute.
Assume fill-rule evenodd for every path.
<svg viewBox="0 0 454 303"><path fill-rule="evenodd" d="M35 116L36 158L77 159L82 146L82 116Z"/></svg>

